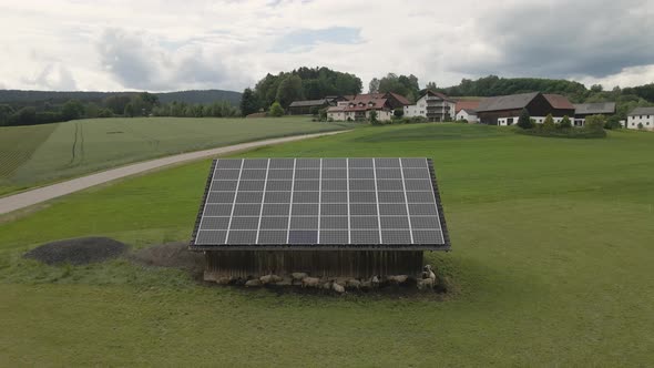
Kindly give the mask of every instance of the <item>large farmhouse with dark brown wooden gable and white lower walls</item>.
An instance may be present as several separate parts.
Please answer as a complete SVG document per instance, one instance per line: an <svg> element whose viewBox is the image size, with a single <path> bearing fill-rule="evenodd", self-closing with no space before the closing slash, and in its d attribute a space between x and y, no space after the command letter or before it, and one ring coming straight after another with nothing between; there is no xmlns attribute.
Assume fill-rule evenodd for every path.
<svg viewBox="0 0 654 368"><path fill-rule="evenodd" d="M523 109L537 123L543 123L548 114L552 114L555 122L561 122L563 116L574 116L574 106L565 96L540 92L484 99L477 109L477 115L482 124L513 125Z"/></svg>

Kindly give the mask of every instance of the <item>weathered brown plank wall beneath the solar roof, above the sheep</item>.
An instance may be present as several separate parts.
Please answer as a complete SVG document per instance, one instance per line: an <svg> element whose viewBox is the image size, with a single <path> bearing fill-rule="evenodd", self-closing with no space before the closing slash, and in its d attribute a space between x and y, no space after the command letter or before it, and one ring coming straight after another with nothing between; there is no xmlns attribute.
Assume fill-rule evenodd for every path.
<svg viewBox="0 0 654 368"><path fill-rule="evenodd" d="M205 279L247 278L295 272L314 277L418 275L421 251L221 251L206 252Z"/></svg>

